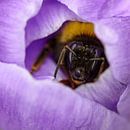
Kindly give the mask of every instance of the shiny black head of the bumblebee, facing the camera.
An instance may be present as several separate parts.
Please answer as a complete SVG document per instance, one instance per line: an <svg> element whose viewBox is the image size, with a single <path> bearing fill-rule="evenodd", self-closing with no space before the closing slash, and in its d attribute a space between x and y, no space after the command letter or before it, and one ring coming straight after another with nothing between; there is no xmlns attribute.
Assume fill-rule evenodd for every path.
<svg viewBox="0 0 130 130"><path fill-rule="evenodd" d="M103 62L103 48L82 41L71 42L68 46L73 51L68 50L65 57L71 79L76 84L92 82Z"/></svg>

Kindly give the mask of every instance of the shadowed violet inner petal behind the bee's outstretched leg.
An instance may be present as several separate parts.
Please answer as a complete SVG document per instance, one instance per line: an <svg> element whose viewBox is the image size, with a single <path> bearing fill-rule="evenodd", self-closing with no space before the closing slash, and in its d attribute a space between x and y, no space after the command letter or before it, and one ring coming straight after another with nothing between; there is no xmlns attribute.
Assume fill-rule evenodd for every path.
<svg viewBox="0 0 130 130"><path fill-rule="evenodd" d="M31 72L32 65L35 63L36 59L38 58L39 54L41 53L42 49L44 48L45 40L37 40L34 41L27 47L26 50L26 58L25 64L28 71ZM33 76L36 79L44 79L45 76L54 76L54 72L56 69L56 63L52 60L50 56L47 56L43 64L41 65L40 69L38 69ZM65 75L62 71L58 71L57 80L65 79Z"/></svg>

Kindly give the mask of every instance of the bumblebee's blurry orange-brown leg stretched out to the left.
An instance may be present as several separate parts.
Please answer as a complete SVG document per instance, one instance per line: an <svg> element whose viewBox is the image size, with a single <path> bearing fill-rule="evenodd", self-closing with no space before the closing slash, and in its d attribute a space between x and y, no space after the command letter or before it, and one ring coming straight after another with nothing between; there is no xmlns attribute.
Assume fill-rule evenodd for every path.
<svg viewBox="0 0 130 130"><path fill-rule="evenodd" d="M31 74L33 74L34 72L36 72L42 65L44 59L47 57L47 55L49 54L50 52L50 46L49 45L46 45L42 52L39 54L38 58L36 59L36 61L34 62L34 64L32 65L32 68L31 68Z"/></svg>

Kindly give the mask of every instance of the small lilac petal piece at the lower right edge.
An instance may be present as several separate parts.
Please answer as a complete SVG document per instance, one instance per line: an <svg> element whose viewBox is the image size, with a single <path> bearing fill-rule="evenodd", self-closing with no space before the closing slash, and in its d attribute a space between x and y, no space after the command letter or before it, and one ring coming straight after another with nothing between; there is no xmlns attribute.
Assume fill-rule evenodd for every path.
<svg viewBox="0 0 130 130"><path fill-rule="evenodd" d="M117 108L120 115L130 121L130 84L120 97Z"/></svg>

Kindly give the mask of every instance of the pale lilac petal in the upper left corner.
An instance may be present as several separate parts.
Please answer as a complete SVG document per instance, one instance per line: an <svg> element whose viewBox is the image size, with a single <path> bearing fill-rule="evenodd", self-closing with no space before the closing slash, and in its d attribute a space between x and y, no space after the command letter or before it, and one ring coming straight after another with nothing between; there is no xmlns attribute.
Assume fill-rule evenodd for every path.
<svg viewBox="0 0 130 130"><path fill-rule="evenodd" d="M27 20L34 16L42 0L1 0L0 2L0 60L24 64Z"/></svg>

